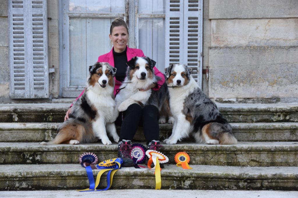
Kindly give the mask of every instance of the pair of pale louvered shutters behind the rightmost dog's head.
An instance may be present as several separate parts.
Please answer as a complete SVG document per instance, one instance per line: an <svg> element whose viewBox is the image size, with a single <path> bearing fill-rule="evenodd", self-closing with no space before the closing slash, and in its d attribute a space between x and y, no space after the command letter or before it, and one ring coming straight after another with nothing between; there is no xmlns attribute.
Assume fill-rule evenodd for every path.
<svg viewBox="0 0 298 198"><path fill-rule="evenodd" d="M166 2L165 65L167 67L169 64L180 63L192 67L192 76L200 87L202 83L201 11L202 0L170 0Z"/></svg>

